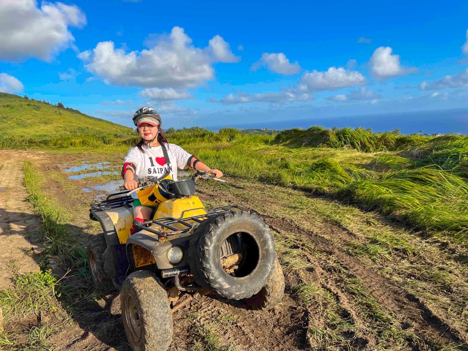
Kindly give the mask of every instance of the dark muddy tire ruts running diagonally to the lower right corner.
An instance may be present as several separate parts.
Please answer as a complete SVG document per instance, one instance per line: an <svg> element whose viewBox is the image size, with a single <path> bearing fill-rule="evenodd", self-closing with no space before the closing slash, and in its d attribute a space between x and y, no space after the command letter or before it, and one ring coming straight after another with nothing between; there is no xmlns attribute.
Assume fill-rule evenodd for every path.
<svg viewBox="0 0 468 351"><path fill-rule="evenodd" d="M268 185L263 185L265 187L269 187ZM239 186L238 188L243 189ZM260 202L264 201L254 197L236 198L229 192L220 189L212 190L210 188L203 188L203 190L199 191L199 193L210 198L223 198L227 203L238 203L239 199L242 199L249 203L249 205L253 204L254 208L255 205L258 205ZM414 296L395 286L387 278L381 277L378 275L378 273L374 273L372 270L365 267L365 265L360 262L359 259L346 254L345 250L337 242L340 240L343 240L344 242L356 240L356 235L352 230L345 228L343 225L328 224L328 227L321 228L321 231L323 229L325 232L327 232L329 237L336 239L336 241L331 241L315 231L302 228L292 219L273 217L262 213L261 215L271 229L276 230L277 232L286 236L288 233L297 233L301 237L305 238L306 241L312 242L314 247L316 247L319 252L327 253L330 256L335 256L343 268L347 269L352 275L357 277L362 282L363 287L369 291L369 293L379 304L383 305L389 311L391 311L393 317L399 320L402 325L412 326L418 333L421 333L422 340L427 345L427 347L432 349L434 345L439 344L439 339L445 339L448 342L466 342L460 333L452 330L452 328L444 323L442 319L438 318L432 313L427 313L426 311L431 311L429 307L423 303L421 303L422 305L414 303ZM302 254L305 254L303 249ZM305 256L307 256L308 260L314 264L314 269L317 271L316 273L321 277L321 279L327 281L327 283L324 285L324 288L327 288L327 286L329 287L330 284L335 286L332 275L326 270L322 269L320 265L317 267L317 260L312 257L312 255ZM336 286L333 290L341 291ZM344 302L343 296L345 296L345 293L342 292L340 298L341 301ZM348 307L347 304L345 305ZM354 311L350 311L349 308L345 309L348 310L351 316L355 315ZM368 341L370 343L369 346L371 346L373 344L373 340L370 339ZM413 340L411 339L408 339L407 342L409 345L413 344ZM417 346L415 347L416 349L418 348Z"/></svg>

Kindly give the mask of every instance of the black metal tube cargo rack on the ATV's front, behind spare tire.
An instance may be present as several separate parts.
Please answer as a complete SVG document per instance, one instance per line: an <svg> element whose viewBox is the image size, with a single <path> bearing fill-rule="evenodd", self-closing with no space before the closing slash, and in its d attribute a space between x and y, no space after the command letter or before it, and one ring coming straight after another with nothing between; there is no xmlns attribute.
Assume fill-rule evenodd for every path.
<svg viewBox="0 0 468 351"><path fill-rule="evenodd" d="M194 210L198 210L198 209L194 209ZM159 236L169 236L169 235L174 235L174 234L186 233L187 231L192 229L194 225L194 223L190 224L189 222L195 222L195 223L200 224L203 222L203 220L209 217L212 217L218 214L224 214L231 210L253 211L245 207L241 207L241 206L217 207L211 211L208 211L206 214L199 214L199 215L187 217L187 218L166 217L166 218L159 218L159 219L152 219L149 221L144 221L143 223L137 225L136 231L146 230L146 231L149 231L150 233L153 233ZM189 210L189 211L192 211L192 210ZM173 227L172 224L176 224L176 223L182 225L184 228L177 229ZM154 227L154 225L161 227L161 229L169 229L171 231L166 231L166 230L163 231L163 230L156 230L154 228L149 228L149 227Z"/></svg>

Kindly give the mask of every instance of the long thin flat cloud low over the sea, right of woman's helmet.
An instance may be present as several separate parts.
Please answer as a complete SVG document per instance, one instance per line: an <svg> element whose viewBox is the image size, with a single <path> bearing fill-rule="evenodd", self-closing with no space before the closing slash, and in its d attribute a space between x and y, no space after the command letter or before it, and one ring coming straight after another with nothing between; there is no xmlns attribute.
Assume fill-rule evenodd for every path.
<svg viewBox="0 0 468 351"><path fill-rule="evenodd" d="M292 89L283 90L281 92L265 92L250 94L247 92L236 92L228 94L221 100L215 98L208 99L209 102L218 102L223 105L248 104L252 102L267 102L273 104L283 104L293 101L309 101L315 97L306 92L295 92Z"/></svg>

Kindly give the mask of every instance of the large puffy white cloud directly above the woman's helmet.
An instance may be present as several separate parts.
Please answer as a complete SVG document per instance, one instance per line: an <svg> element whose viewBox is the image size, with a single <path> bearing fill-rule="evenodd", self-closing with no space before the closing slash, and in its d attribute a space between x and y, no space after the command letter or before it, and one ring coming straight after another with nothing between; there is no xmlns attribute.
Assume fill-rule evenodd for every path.
<svg viewBox="0 0 468 351"><path fill-rule="evenodd" d="M149 50L125 53L111 41L100 42L92 51L80 53L79 58L87 61L86 68L107 84L187 88L213 79L212 63L230 59L221 40L217 35L210 46L198 48L191 44L183 28L174 27Z"/></svg>

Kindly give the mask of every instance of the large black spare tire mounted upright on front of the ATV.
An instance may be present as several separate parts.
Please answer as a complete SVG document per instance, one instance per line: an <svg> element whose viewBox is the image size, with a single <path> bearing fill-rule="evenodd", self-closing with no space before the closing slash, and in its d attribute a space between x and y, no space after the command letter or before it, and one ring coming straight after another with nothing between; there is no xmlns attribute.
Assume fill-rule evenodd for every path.
<svg viewBox="0 0 468 351"><path fill-rule="evenodd" d="M221 265L220 254L231 236L231 241L241 243L242 251L237 268L229 272ZM203 288L240 300L265 286L275 259L273 235L263 219L254 212L230 211L203 221L194 230L188 262L190 273Z"/></svg>

